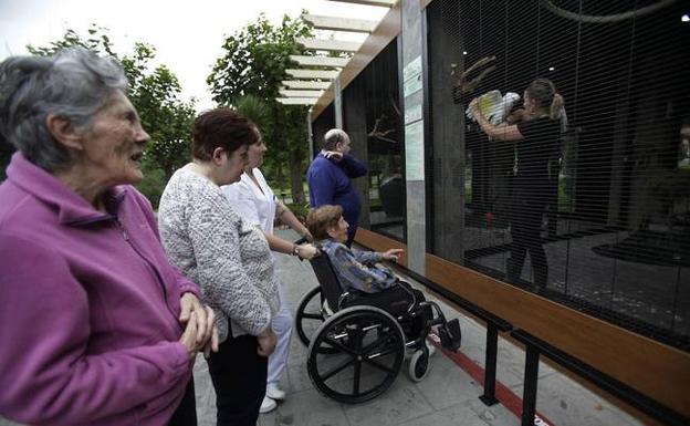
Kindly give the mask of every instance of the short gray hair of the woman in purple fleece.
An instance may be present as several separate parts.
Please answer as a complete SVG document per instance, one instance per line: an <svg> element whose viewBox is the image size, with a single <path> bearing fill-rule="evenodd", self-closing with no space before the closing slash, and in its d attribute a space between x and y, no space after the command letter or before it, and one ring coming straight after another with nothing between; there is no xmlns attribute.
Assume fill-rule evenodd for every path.
<svg viewBox="0 0 690 426"><path fill-rule="evenodd" d="M50 134L45 118L54 114L88 128L116 91L127 91L122 65L83 48L11 56L0 63L0 135L36 166L66 169L74 159Z"/></svg>

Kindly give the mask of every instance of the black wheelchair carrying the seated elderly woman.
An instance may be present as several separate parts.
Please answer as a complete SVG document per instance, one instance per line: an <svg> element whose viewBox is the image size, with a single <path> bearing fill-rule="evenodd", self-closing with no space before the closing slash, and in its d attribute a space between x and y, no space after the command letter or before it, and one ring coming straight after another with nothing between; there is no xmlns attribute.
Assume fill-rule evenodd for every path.
<svg viewBox="0 0 690 426"><path fill-rule="evenodd" d="M457 319L446 321L437 303L417 301L408 291L414 302L394 318L367 305L367 294L344 292L325 252L311 263L318 285L300 301L295 331L309 346L310 380L325 396L347 404L373 399L395 382L406 357L409 377L421 381L429 367L426 337L431 328L437 328L445 349L459 350L460 323ZM425 320L415 323L422 311Z"/></svg>

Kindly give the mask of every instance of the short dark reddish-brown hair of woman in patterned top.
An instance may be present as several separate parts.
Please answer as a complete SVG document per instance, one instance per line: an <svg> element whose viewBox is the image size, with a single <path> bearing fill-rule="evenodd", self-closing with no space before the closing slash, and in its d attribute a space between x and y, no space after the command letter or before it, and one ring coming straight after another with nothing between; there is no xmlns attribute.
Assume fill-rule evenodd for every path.
<svg viewBox="0 0 690 426"><path fill-rule="evenodd" d="M259 137L257 125L237 111L228 107L206 111L195 120L191 155L210 162L216 148L232 153Z"/></svg>

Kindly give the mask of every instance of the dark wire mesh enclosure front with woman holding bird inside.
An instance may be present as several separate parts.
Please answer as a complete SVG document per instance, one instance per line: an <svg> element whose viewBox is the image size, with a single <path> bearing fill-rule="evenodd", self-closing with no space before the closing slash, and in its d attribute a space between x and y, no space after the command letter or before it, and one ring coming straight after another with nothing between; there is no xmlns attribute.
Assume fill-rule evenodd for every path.
<svg viewBox="0 0 690 426"><path fill-rule="evenodd" d="M431 2L429 251L690 349L682 3ZM498 91L494 123L526 128L541 117L513 114L537 77L564 100L547 143L490 138L466 114Z"/></svg>

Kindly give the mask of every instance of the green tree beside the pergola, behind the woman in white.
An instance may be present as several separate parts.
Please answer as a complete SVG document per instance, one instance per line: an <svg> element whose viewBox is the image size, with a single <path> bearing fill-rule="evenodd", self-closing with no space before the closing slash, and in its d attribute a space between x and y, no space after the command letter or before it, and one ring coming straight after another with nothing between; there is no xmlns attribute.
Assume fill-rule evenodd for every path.
<svg viewBox="0 0 690 426"><path fill-rule="evenodd" d="M283 105L275 101L285 69L293 66L291 54L304 54L304 48L295 42L299 37L310 37L311 27L299 17L283 17L273 25L264 14L228 37L222 45L223 54L217 60L207 79L213 100L223 105L257 106L263 103L265 113L258 125L266 141L266 176L276 187L284 186L283 170L290 173L292 199L305 202L303 180L307 166L309 145L306 106ZM244 97L251 95L254 101ZM251 100L251 98L250 98ZM253 107L252 106L252 107Z"/></svg>

